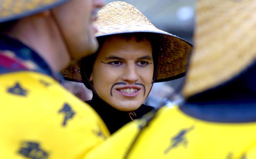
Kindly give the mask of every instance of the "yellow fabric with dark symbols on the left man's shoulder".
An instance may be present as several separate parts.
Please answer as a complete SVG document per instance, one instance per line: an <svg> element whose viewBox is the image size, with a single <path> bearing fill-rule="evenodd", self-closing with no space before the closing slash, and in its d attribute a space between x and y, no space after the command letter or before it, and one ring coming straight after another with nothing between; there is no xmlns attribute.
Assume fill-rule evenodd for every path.
<svg viewBox="0 0 256 159"><path fill-rule="evenodd" d="M0 158L82 158L109 136L98 114L49 76L8 73L0 85Z"/></svg>

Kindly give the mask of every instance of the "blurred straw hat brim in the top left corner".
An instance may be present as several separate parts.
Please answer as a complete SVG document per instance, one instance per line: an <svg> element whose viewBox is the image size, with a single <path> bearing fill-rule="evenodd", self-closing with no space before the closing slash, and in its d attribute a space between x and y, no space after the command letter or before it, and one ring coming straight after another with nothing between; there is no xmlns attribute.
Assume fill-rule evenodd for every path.
<svg viewBox="0 0 256 159"><path fill-rule="evenodd" d="M0 0L0 23L55 8L70 0Z"/></svg>

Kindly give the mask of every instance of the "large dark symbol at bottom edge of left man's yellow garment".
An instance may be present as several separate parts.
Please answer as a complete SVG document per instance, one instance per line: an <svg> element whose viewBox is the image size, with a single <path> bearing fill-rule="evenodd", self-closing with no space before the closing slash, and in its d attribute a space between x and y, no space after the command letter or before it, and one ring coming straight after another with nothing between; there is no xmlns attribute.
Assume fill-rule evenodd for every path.
<svg viewBox="0 0 256 159"><path fill-rule="evenodd" d="M18 153L32 159L47 159L49 157L48 153L41 149L37 142L23 142Z"/></svg>

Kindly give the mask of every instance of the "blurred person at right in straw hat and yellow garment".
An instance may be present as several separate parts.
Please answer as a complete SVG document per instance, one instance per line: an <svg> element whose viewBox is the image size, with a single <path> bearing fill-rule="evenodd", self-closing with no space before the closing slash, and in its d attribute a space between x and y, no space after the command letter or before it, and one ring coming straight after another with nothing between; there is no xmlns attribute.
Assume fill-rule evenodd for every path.
<svg viewBox="0 0 256 159"><path fill-rule="evenodd" d="M185 103L129 123L90 157L255 159L255 26L255 1L197 1Z"/></svg>

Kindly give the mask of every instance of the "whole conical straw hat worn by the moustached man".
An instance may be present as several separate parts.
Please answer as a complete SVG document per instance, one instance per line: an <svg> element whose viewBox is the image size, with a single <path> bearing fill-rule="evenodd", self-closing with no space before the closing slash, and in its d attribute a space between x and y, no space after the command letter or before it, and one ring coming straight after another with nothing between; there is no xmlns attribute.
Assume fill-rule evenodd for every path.
<svg viewBox="0 0 256 159"><path fill-rule="evenodd" d="M158 68L155 82L168 81L184 76L192 45L168 32L157 29L131 4L115 1L98 11L93 23L98 28L96 37L113 34L145 32L160 38ZM62 71L67 80L82 82L80 61Z"/></svg>

